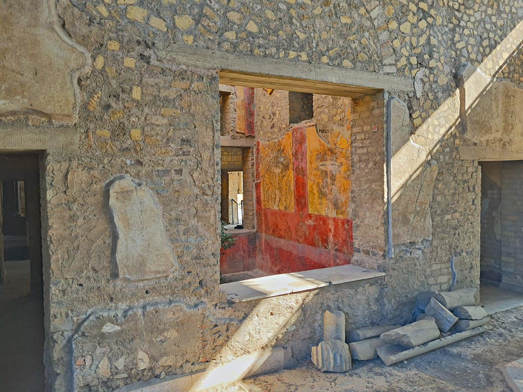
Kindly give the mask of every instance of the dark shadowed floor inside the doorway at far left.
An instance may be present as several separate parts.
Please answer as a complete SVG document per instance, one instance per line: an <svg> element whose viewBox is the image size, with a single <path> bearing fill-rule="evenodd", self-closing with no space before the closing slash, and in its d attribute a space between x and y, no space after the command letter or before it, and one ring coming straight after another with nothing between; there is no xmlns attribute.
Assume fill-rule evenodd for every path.
<svg viewBox="0 0 523 392"><path fill-rule="evenodd" d="M0 391L43 391L43 301L29 292L29 260L5 265L6 281L0 285Z"/></svg>

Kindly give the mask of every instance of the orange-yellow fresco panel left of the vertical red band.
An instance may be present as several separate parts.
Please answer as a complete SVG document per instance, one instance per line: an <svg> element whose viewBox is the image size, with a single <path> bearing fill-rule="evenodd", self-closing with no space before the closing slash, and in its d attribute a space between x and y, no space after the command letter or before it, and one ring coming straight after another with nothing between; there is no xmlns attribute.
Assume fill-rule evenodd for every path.
<svg viewBox="0 0 523 392"><path fill-rule="evenodd" d="M260 143L261 203L264 208L294 211L292 132L274 142Z"/></svg>

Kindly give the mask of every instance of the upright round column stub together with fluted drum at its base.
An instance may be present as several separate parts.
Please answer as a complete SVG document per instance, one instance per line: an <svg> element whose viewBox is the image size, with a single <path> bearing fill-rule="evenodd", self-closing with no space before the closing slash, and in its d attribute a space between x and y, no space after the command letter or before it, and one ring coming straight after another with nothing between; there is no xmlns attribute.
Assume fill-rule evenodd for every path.
<svg viewBox="0 0 523 392"><path fill-rule="evenodd" d="M345 343L345 314L335 310L323 315L323 338L311 351L312 362L322 372L346 372L352 367Z"/></svg>

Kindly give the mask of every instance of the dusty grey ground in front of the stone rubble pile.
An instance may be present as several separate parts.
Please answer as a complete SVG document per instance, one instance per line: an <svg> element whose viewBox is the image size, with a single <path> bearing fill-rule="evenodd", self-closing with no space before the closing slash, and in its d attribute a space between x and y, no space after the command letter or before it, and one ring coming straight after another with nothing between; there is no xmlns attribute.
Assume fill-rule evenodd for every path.
<svg viewBox="0 0 523 392"><path fill-rule="evenodd" d="M238 392L508 392L502 370L523 353L523 306L492 315L482 335L385 366L353 361L347 373L321 373L310 364L221 387Z"/></svg>

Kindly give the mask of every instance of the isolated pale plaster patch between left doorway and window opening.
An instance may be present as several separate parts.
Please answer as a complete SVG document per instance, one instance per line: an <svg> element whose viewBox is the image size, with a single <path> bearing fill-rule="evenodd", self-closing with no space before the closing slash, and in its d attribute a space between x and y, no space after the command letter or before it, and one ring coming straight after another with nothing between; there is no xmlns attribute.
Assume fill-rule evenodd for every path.
<svg viewBox="0 0 523 392"><path fill-rule="evenodd" d="M178 266L153 192L128 175L106 185L112 220L112 258L119 278L152 279Z"/></svg>

